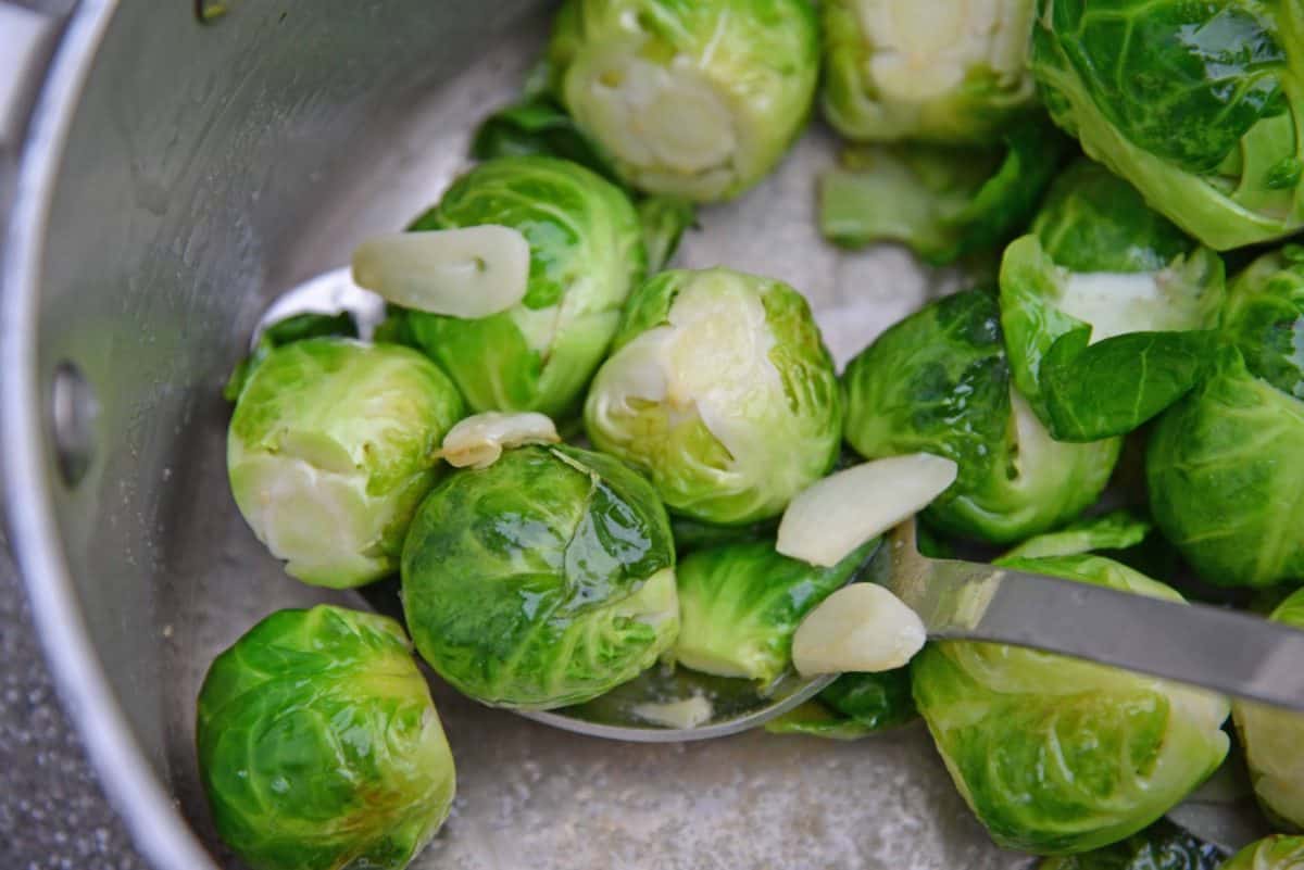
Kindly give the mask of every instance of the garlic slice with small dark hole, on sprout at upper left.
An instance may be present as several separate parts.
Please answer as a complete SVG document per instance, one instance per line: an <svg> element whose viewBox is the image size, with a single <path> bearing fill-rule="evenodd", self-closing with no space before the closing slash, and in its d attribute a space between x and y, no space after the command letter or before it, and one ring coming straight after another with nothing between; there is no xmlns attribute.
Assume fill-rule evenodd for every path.
<svg viewBox="0 0 1304 870"><path fill-rule="evenodd" d="M485 318L526 298L529 242L497 224L377 236L353 251L353 283L417 311Z"/></svg>

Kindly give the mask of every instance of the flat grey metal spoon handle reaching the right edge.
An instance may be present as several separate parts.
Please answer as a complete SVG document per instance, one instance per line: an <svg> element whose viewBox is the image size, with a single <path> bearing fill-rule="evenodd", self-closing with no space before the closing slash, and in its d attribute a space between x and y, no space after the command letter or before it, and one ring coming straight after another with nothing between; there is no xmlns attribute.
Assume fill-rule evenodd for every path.
<svg viewBox="0 0 1304 870"><path fill-rule="evenodd" d="M1304 711L1304 632L998 565L898 559L905 547L893 550L891 587L930 639L1026 646Z"/></svg>

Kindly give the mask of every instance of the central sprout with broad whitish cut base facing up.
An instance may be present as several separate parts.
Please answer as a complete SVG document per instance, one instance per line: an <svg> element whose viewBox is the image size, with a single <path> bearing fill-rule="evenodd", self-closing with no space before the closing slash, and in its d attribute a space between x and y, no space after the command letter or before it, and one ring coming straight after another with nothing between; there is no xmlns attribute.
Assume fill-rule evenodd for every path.
<svg viewBox="0 0 1304 870"><path fill-rule="evenodd" d="M746 525L833 466L842 401L806 300L725 268L661 272L630 297L584 428L672 512Z"/></svg>

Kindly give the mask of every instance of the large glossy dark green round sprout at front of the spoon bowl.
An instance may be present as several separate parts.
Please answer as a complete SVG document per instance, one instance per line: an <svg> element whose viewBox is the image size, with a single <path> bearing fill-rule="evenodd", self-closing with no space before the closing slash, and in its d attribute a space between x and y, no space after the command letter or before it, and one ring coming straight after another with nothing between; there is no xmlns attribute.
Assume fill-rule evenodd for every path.
<svg viewBox="0 0 1304 870"><path fill-rule="evenodd" d="M652 486L572 447L455 471L403 548L417 649L499 707L580 703L635 677L679 630L670 522Z"/></svg>

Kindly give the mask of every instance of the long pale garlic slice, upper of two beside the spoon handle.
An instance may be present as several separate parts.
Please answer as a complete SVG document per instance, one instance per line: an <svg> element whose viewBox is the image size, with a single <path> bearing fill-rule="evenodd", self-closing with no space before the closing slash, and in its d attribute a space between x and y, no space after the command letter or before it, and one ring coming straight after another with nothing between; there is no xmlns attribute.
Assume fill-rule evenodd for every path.
<svg viewBox="0 0 1304 870"><path fill-rule="evenodd" d="M831 567L853 550L928 507L956 482L958 466L931 453L855 465L803 490L778 524L775 550Z"/></svg>

